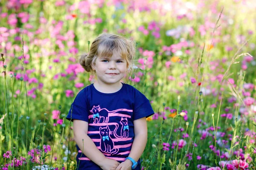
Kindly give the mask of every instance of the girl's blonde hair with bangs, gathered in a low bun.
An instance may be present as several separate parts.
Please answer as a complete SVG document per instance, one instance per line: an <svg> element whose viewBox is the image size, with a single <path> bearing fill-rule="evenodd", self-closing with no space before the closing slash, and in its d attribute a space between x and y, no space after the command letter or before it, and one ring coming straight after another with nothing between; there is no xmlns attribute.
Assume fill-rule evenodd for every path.
<svg viewBox="0 0 256 170"><path fill-rule="evenodd" d="M85 71L95 74L96 59L100 57L111 58L115 51L122 57L122 59L126 60L126 68L129 70L130 75L134 71L133 63L135 49L135 42L133 40L128 40L125 37L116 34L102 33L91 44L89 53L81 55L79 62ZM126 81L128 80L129 75L126 75Z"/></svg>

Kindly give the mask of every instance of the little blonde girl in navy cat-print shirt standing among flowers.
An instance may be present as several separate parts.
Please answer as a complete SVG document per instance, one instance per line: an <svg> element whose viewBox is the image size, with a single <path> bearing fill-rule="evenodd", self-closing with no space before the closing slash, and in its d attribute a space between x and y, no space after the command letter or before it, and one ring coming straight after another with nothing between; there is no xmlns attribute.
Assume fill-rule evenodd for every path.
<svg viewBox="0 0 256 170"><path fill-rule="evenodd" d="M154 111L144 94L120 82L131 74L134 55L133 41L104 33L80 58L97 81L77 94L67 115L73 121L78 170L140 170L146 118Z"/></svg>

